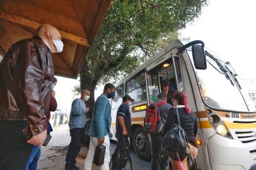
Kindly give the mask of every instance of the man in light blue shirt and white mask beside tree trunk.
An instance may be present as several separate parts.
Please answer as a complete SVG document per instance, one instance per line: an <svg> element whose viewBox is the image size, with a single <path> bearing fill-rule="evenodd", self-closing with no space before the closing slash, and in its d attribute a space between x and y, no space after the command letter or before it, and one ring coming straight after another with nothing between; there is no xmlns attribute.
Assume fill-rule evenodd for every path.
<svg viewBox="0 0 256 170"><path fill-rule="evenodd" d="M81 149L81 132L84 127L85 114L89 111L89 108L86 108L85 101L88 101L89 98L90 91L84 89L81 92L81 98L75 99L72 103L69 116L71 142L67 151L65 169L79 169L76 166L76 156L78 156L78 152Z"/></svg>

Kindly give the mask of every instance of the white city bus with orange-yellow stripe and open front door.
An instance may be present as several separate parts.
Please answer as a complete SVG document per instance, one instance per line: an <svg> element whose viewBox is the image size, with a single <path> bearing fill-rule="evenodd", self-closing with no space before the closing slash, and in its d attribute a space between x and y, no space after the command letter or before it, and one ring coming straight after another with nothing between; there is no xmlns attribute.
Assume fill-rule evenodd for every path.
<svg viewBox="0 0 256 170"><path fill-rule="evenodd" d="M198 169L250 169L256 163L255 105L230 62L204 51L201 41L173 41L117 84L111 101L113 135L117 109L124 94L129 94L135 99L130 107L132 146L141 159L150 159L144 115L166 84L168 98L173 91L184 91L197 115Z"/></svg>

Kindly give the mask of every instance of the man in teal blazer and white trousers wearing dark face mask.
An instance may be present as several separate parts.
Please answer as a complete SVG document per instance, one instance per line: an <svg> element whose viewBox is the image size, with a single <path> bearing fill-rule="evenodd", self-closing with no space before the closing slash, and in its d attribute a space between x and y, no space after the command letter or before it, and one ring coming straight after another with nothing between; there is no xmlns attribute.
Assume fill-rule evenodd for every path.
<svg viewBox="0 0 256 170"><path fill-rule="evenodd" d="M84 161L84 170L91 170L93 164L93 157L96 146L99 144L105 145L104 164L100 166L101 170L109 170L108 163L110 161L110 133L111 126L111 106L108 99L115 96L115 86L108 83L104 87L102 95L100 95L93 107L93 116L91 118L91 125L89 129L90 145L88 154Z"/></svg>

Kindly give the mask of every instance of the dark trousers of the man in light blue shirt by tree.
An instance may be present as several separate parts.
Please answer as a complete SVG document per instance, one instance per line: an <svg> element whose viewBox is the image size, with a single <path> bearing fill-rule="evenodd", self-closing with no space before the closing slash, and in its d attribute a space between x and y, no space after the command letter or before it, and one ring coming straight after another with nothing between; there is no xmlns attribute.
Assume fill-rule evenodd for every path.
<svg viewBox="0 0 256 170"><path fill-rule="evenodd" d="M70 130L71 142L69 150L67 150L66 164L74 166L76 164L76 156L81 149L81 132L83 128L73 128Z"/></svg>

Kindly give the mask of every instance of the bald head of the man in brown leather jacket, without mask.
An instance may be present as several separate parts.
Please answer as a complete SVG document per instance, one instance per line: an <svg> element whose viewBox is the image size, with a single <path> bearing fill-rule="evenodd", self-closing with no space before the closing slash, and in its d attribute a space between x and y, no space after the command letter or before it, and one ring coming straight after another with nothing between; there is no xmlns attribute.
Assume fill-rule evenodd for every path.
<svg viewBox="0 0 256 170"><path fill-rule="evenodd" d="M49 24L42 24L37 28L37 35L42 38L50 46L52 52L56 51L52 40L61 40L61 33L57 28Z"/></svg>

